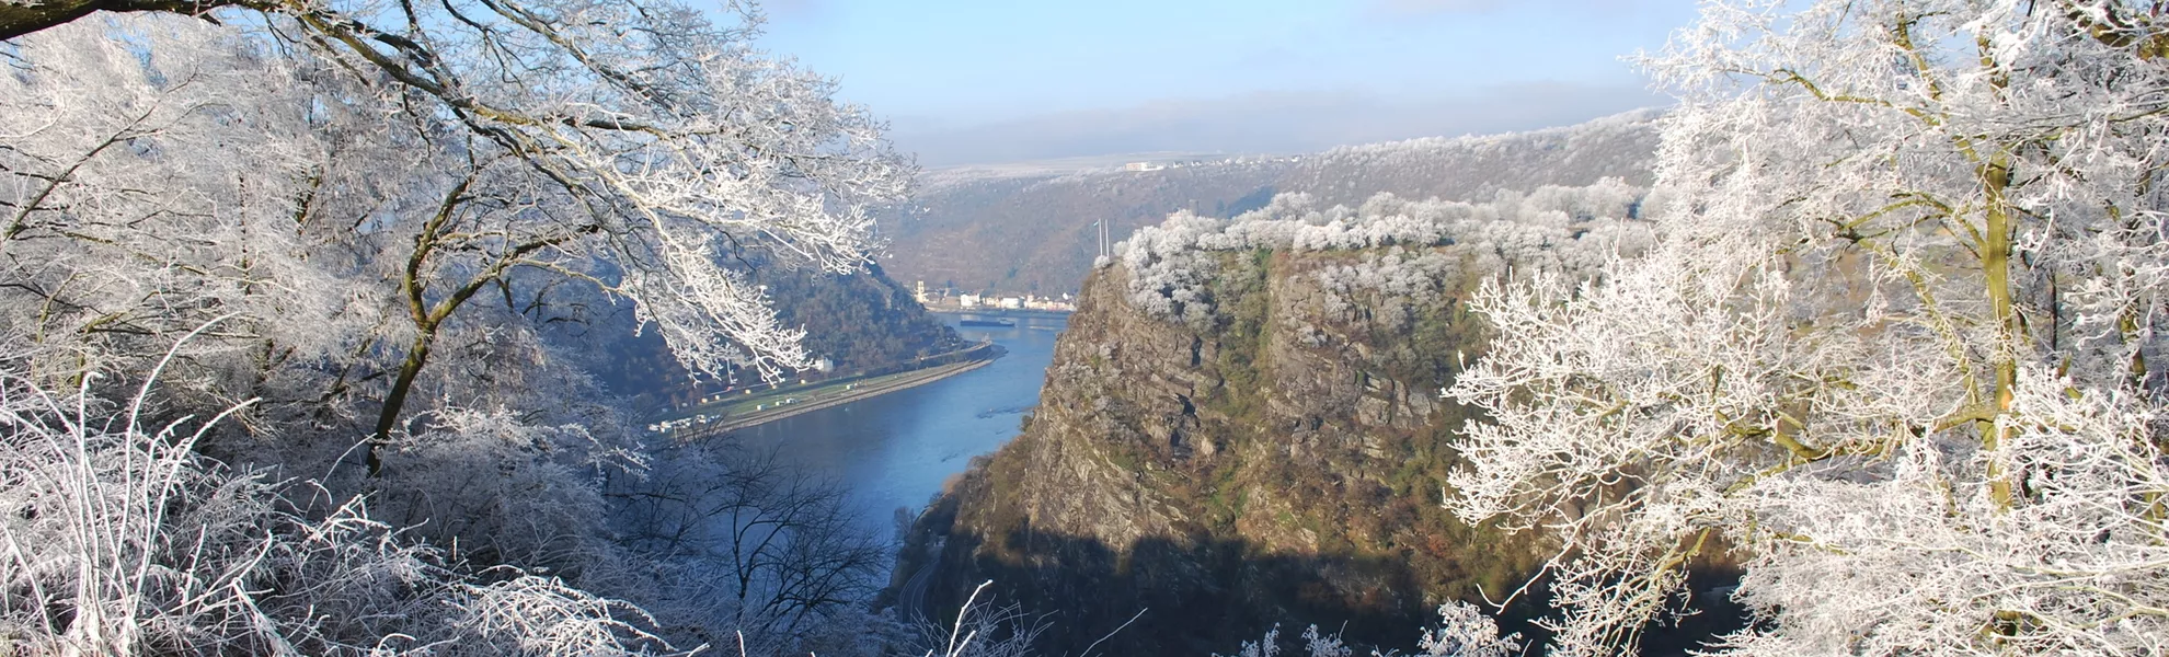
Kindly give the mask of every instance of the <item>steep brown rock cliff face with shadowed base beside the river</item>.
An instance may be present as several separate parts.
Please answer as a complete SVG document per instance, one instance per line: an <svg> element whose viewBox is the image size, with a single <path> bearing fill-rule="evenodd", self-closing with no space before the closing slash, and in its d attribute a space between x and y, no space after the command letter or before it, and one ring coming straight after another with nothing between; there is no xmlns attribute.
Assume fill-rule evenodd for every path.
<svg viewBox="0 0 2169 657"><path fill-rule="evenodd" d="M1438 392L1481 347L1473 278L1345 275L1458 249L1219 254L1210 319L1189 323L1130 308L1124 267L1093 271L1024 434L922 518L922 609L954 618L991 579L998 605L1054 611L1056 653L1147 607L1100 650L1234 653L1275 622L1408 648L1442 601L1518 588L1546 546L1438 507L1466 421Z"/></svg>

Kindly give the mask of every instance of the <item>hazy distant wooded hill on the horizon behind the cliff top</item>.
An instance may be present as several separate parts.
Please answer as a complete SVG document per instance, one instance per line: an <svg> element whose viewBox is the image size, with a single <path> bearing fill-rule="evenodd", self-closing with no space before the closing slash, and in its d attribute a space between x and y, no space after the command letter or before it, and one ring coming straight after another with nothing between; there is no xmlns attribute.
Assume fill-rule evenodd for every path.
<svg viewBox="0 0 2169 657"><path fill-rule="evenodd" d="M1139 156L1165 165L1124 171L1119 158L928 171L909 217L883 226L881 265L907 286L1074 293L1098 252L1093 221L1121 241L1169 212L1232 217L1275 193L1360 204L1377 193L1488 199L1540 184L1599 178L1651 182L1661 111L1633 111L1568 128L1410 139L1306 156Z"/></svg>

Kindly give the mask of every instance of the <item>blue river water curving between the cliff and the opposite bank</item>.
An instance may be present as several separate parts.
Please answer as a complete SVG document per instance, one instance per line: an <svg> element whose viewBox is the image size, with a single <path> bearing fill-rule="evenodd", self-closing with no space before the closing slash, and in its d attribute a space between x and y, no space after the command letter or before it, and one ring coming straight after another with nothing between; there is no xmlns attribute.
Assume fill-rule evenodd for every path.
<svg viewBox="0 0 2169 657"><path fill-rule="evenodd" d="M1015 327L967 327L965 340L993 338L1009 356L911 390L824 408L735 431L742 445L777 449L805 475L844 484L868 529L887 538L896 510L917 514L974 455L1017 436L1039 403L1054 338L1067 319L1015 319Z"/></svg>

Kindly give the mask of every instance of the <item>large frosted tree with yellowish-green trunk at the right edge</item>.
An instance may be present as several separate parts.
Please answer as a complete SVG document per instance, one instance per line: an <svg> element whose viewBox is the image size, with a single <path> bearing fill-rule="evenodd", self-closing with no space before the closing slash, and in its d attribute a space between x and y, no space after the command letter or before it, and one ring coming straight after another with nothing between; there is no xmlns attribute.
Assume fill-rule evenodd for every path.
<svg viewBox="0 0 2169 657"><path fill-rule="evenodd" d="M1642 56L1657 245L1492 286L1447 505L1557 536L1560 655L1731 551L1735 655L2169 650L2169 24L1709 2Z"/></svg>

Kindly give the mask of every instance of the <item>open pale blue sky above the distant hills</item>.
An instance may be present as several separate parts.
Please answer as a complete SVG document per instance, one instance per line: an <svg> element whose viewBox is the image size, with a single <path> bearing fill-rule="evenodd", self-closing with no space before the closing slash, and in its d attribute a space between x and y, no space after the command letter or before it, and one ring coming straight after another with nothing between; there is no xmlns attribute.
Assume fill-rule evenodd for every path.
<svg viewBox="0 0 2169 657"><path fill-rule="evenodd" d="M770 0L761 46L928 165L1306 152L1661 104L1620 54L1692 0Z"/></svg>

